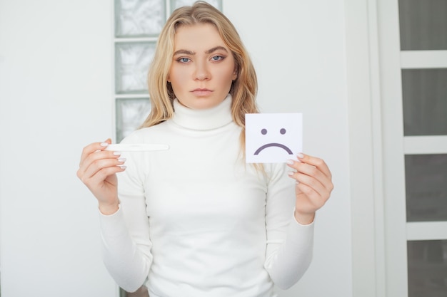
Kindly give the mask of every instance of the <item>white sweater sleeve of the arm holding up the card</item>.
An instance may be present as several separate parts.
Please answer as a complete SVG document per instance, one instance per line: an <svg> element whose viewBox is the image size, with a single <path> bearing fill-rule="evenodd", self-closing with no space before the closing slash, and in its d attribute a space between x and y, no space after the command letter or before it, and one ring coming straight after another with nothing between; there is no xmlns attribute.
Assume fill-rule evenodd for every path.
<svg viewBox="0 0 447 297"><path fill-rule="evenodd" d="M293 216L295 181L286 165L272 165L266 197L267 248L264 267L278 288L287 289L311 264L313 223L301 225Z"/></svg>

